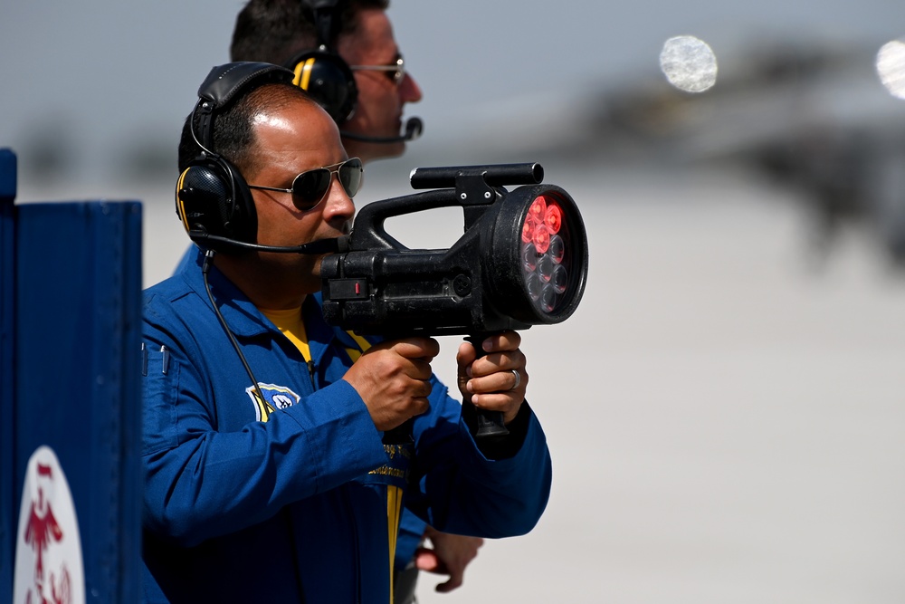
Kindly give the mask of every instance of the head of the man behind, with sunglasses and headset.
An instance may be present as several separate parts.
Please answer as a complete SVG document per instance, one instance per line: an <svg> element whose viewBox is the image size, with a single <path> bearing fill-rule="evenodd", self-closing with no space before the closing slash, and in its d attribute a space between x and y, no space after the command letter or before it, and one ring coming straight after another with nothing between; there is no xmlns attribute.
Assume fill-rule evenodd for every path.
<svg viewBox="0 0 905 604"><path fill-rule="evenodd" d="M405 72L389 0L250 0L236 17L232 61L284 65L338 122L343 146L366 164L405 151L405 103L421 89Z"/></svg>

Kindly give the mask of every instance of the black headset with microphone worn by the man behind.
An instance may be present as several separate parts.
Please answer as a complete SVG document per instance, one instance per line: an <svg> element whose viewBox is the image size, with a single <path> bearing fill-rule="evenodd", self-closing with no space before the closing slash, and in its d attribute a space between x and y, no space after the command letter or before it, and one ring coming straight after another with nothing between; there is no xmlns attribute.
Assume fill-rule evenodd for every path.
<svg viewBox="0 0 905 604"><path fill-rule="evenodd" d="M394 137L372 137L342 129L343 124L355 113L358 88L352 68L331 47L340 27L338 0L300 1L303 9L311 11L318 47L302 51L284 63L293 73L292 82L308 91L327 110L339 125L343 137L365 142L395 143L421 136L424 126L419 118L410 118L405 122L405 133Z"/></svg>

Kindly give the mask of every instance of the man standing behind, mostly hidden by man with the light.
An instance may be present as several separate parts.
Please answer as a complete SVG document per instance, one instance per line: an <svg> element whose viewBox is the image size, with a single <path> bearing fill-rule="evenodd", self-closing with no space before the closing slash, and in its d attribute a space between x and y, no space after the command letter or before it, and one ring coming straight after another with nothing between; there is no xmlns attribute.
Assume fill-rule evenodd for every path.
<svg viewBox="0 0 905 604"><path fill-rule="evenodd" d="M299 84L307 76L308 85L303 87L338 122L350 157L361 158L366 165L397 157L405 152L406 141L420 134L416 118L408 120L407 128L402 118L406 103L421 100L421 89L405 72L386 15L388 5L389 0L336 4L251 0L236 17L231 59L285 65L296 72ZM424 537L432 548L422 543ZM436 586L437 591L461 586L464 570L482 542L477 537L437 532L414 514L403 513L397 544L397 604L414 601L418 570L449 576Z"/></svg>

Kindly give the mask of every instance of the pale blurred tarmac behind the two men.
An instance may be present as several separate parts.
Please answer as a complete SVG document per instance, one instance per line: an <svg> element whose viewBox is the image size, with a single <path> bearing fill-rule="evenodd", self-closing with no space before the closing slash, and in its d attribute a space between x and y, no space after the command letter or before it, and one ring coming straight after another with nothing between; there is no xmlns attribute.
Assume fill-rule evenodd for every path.
<svg viewBox="0 0 905 604"><path fill-rule="evenodd" d="M419 601L905 601L905 275L856 228L815 257L801 201L732 174L545 180L576 199L590 244L575 315L522 334L548 510L488 542L460 590L423 575ZM165 188L138 196L146 285L188 243ZM399 238L461 234L424 219L397 219ZM457 342L441 343L452 384Z"/></svg>

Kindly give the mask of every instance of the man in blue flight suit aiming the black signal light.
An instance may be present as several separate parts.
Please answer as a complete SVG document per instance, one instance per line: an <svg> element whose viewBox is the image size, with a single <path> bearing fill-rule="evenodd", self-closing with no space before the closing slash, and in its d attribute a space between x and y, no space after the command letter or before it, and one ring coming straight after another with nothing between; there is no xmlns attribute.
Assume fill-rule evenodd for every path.
<svg viewBox="0 0 905 604"><path fill-rule="evenodd" d="M548 501L518 333L481 358L462 344L460 405L435 340L325 324L320 256L298 246L348 231L362 168L291 75L214 68L186 120L177 207L216 253L144 296L148 602L388 604L403 490L438 529L485 537L530 531ZM510 435L476 442L472 405ZM411 417L414 442L382 442Z"/></svg>

